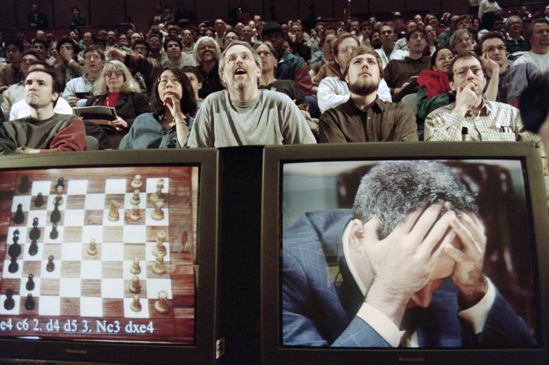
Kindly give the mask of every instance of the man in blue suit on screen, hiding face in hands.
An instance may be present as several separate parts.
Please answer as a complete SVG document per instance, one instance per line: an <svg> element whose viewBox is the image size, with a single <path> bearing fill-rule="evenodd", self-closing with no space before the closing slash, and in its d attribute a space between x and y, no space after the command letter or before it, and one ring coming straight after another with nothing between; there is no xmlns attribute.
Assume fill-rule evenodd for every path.
<svg viewBox="0 0 549 365"><path fill-rule="evenodd" d="M352 211L301 216L283 234L283 344L534 345L482 273L477 209L444 164L388 161L362 177ZM336 285L325 253L341 252Z"/></svg>

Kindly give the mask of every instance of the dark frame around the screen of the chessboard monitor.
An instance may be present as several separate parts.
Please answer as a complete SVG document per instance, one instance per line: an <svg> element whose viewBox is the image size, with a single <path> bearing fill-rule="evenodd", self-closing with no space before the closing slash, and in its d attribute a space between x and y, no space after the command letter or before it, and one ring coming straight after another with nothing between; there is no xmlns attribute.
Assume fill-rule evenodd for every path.
<svg viewBox="0 0 549 365"><path fill-rule="evenodd" d="M218 336L218 153L215 149L0 155L0 171L40 168L198 166L198 301L194 344L0 338L0 358L102 363L214 364Z"/></svg>

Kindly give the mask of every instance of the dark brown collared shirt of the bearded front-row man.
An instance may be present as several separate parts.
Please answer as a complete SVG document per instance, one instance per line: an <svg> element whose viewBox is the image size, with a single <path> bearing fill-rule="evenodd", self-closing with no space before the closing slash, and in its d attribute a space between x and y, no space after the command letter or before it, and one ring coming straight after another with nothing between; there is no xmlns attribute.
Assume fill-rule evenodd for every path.
<svg viewBox="0 0 549 365"><path fill-rule="evenodd" d="M402 103L388 103L377 97L364 112L349 98L320 116L318 140L328 143L415 141L416 117Z"/></svg>

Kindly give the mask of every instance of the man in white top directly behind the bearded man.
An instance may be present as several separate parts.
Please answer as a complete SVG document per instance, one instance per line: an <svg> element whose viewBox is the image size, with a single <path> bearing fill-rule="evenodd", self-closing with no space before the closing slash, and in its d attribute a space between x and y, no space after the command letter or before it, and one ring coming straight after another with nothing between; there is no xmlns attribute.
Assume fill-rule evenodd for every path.
<svg viewBox="0 0 549 365"><path fill-rule="evenodd" d="M351 53L353 49L358 47L358 40L355 36L349 33L342 33L334 42L334 52L337 49L337 55L334 60L337 60L338 76L325 77L318 85L318 107L320 112L325 112L331 108L346 102L351 96L349 86L343 77L343 71L349 66L351 61ZM384 101L391 101L390 90L384 79L381 79L377 88L377 95Z"/></svg>

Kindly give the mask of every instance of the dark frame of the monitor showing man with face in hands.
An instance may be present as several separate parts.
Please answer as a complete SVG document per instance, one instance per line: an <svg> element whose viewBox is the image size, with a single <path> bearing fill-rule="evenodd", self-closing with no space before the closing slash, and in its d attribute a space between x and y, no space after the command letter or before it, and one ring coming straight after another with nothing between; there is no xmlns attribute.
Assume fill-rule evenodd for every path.
<svg viewBox="0 0 549 365"><path fill-rule="evenodd" d="M539 288L537 349L354 349L283 347L281 345L282 250L281 188L283 164L337 160L505 160L519 159L526 170L525 190L534 227L533 270ZM549 361L549 225L539 149L528 142L378 142L266 147L261 214L261 360L263 364L540 364ZM532 201L544 203L530 204ZM277 259L275 260L275 257ZM273 292L273 289L274 292ZM543 331L543 332L542 332Z"/></svg>

